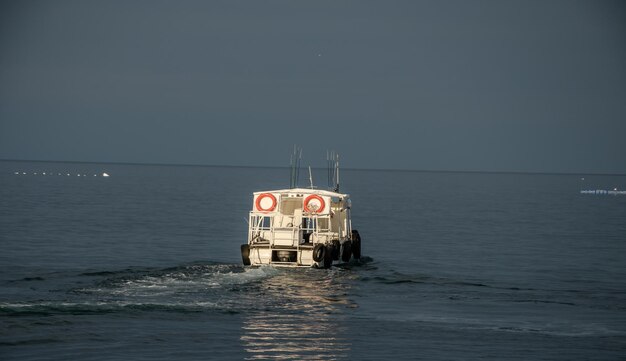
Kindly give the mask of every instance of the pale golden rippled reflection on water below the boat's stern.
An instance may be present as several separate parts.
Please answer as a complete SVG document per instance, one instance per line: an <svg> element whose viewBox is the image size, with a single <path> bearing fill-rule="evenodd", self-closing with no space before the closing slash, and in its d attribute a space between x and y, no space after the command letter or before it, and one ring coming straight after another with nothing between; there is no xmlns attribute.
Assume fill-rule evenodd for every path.
<svg viewBox="0 0 626 361"><path fill-rule="evenodd" d="M285 270L260 284L268 307L247 316L241 340L248 360L346 359L343 310L354 307L337 270ZM261 301L261 300L260 300Z"/></svg>

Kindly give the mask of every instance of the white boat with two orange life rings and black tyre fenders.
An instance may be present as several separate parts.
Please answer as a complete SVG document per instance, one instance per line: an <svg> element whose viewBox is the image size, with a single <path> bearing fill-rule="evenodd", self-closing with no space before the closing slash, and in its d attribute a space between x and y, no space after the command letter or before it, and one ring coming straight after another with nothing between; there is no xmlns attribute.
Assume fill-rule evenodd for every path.
<svg viewBox="0 0 626 361"><path fill-rule="evenodd" d="M297 187L292 158L292 188L254 192L248 242L241 246L244 265L328 268L361 258L350 196L339 193L338 158L333 161L333 190L315 189L312 178L311 188ZM329 179L330 173L329 167Z"/></svg>

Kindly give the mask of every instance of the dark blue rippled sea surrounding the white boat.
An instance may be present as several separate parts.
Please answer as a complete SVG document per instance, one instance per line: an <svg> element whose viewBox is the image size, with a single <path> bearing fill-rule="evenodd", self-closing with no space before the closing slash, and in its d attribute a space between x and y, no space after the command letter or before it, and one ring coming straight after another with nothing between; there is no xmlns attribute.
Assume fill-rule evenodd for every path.
<svg viewBox="0 0 626 361"><path fill-rule="evenodd" d="M626 359L626 177L345 170L363 262L245 269L288 174L0 162L0 359Z"/></svg>

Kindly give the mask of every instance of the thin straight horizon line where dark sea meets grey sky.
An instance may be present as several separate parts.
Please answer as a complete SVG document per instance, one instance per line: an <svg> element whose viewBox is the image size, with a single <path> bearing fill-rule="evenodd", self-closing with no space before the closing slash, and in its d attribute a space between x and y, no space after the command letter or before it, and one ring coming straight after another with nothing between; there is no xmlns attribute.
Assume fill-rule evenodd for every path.
<svg viewBox="0 0 626 361"><path fill-rule="evenodd" d="M80 161L80 160L39 160L39 159L4 159L2 162L33 162L33 163L75 163L75 164L111 164L111 165L139 165L139 166L170 166L170 167L209 167L209 168L289 168L286 166L267 165L224 165L224 164L193 164L193 163L139 163L139 162L111 162L111 161ZM313 167L312 169L325 169ZM548 171L514 171L514 170L450 170L450 169L406 169L406 168L342 168L353 171L374 172L416 172L416 173L485 173L485 174L536 174L536 175L597 175L597 176L626 176L626 173L600 172L548 172Z"/></svg>

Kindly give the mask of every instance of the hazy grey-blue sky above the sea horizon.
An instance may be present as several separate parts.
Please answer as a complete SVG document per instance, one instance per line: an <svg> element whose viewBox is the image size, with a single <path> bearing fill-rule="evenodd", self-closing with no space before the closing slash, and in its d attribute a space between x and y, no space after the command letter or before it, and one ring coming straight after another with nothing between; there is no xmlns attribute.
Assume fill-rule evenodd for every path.
<svg viewBox="0 0 626 361"><path fill-rule="evenodd" d="M626 173L624 1L2 1L0 158Z"/></svg>

